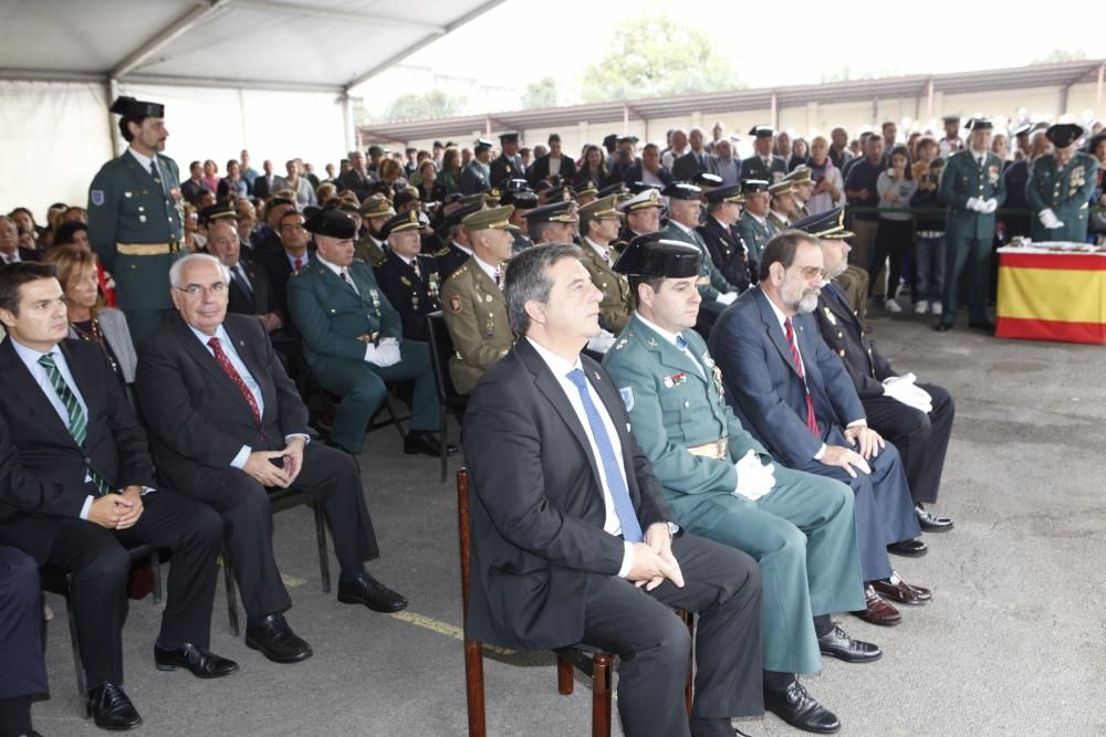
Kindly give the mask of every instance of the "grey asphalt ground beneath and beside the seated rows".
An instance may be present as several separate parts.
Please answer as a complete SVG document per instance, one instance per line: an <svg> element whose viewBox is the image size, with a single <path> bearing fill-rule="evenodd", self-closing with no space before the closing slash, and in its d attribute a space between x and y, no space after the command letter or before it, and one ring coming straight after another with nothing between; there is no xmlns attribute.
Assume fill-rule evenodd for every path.
<svg viewBox="0 0 1106 737"><path fill-rule="evenodd" d="M933 589L930 606L904 611L891 629L839 618L853 635L881 645L884 659L830 660L805 680L810 691L852 735L1106 734L1106 354L999 340L962 320L940 335L912 315L872 323L896 367L956 398L933 508L957 526L927 536L927 557L894 560L907 580ZM384 550L372 571L410 608L387 617L323 594L310 512L281 512L278 560L302 579L288 618L314 656L282 666L248 650L229 634L220 586L212 650L241 671L215 682L161 673L152 655L159 608L132 602L125 685L145 718L140 731L466 734L455 488L451 478L438 483L436 461L400 448L394 430L377 431L361 464ZM81 716L64 601L50 594L48 603L56 612L46 650L52 694L34 706L35 727L48 736L98 734ZM577 677L575 695L559 696L552 662L547 653L486 659L490 734L589 734L585 680ZM738 726L799 734L772 715Z"/></svg>

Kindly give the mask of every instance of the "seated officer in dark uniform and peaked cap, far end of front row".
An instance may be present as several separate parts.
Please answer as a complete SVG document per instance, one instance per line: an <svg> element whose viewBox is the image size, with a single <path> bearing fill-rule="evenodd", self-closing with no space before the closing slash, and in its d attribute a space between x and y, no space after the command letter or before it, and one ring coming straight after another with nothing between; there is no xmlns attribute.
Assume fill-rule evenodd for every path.
<svg viewBox="0 0 1106 737"><path fill-rule="evenodd" d="M839 215L839 210L831 210L795 223L795 230L822 242L827 281L814 310L822 339L845 365L868 423L902 456L921 529L949 530L952 519L933 515L925 505L937 502L956 406L943 387L915 383L912 373L899 376L869 337L872 328L857 317L848 297L833 283L848 266L845 238L851 233L842 228Z"/></svg>

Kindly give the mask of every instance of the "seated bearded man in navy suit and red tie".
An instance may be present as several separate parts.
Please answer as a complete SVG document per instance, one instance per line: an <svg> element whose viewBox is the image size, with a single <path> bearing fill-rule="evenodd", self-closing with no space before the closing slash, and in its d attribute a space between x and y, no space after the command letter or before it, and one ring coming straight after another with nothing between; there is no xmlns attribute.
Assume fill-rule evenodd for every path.
<svg viewBox="0 0 1106 737"><path fill-rule="evenodd" d="M867 609L876 624L901 617L878 594L920 604L930 592L906 583L887 552L920 556L926 545L894 446L868 427L864 407L810 314L825 277L817 239L784 231L769 241L760 285L718 318L710 351L741 424L787 467L845 482L856 495L857 543ZM855 449L855 450L854 450Z"/></svg>

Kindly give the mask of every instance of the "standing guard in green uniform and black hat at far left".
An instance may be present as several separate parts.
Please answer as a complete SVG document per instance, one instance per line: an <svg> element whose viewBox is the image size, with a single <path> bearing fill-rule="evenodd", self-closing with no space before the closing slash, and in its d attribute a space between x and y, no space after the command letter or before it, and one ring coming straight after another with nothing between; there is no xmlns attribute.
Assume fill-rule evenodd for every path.
<svg viewBox="0 0 1106 737"><path fill-rule="evenodd" d="M165 150L165 106L134 97L112 104L129 144L88 188L88 240L115 277L115 296L137 345L174 312L169 267L184 239L177 164Z"/></svg>

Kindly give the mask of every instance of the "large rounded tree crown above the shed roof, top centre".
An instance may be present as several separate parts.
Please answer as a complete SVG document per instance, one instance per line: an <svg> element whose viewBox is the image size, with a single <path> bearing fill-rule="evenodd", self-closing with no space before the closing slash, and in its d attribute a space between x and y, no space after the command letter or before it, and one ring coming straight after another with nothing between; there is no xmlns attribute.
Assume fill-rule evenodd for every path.
<svg viewBox="0 0 1106 737"><path fill-rule="evenodd" d="M636 18L614 32L606 56L584 71L585 103L718 92L743 86L710 38L667 15Z"/></svg>

